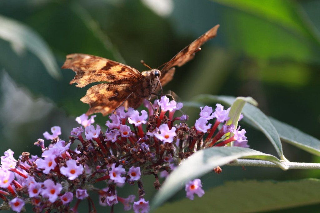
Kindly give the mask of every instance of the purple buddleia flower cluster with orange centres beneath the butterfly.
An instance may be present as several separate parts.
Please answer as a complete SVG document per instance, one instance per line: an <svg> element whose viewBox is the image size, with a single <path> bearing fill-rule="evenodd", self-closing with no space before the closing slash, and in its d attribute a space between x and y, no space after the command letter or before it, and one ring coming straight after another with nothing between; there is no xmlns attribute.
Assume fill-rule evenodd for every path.
<svg viewBox="0 0 320 213"><path fill-rule="evenodd" d="M90 194L97 193L101 206L112 207L121 202L124 210L149 212L149 201L143 198L142 175L154 176L154 187L159 189L159 176L167 177L182 159L197 150L230 142L247 146L245 130L233 125L223 125L213 137L218 125L229 119L230 109L224 110L219 104L214 112L212 107L200 107L200 118L192 128L185 123L187 115L174 117L182 103L163 96L152 106L145 102L145 106L149 113L119 107L109 116L106 131L98 124L92 125L95 116L89 118L83 114L76 118L82 126L70 132L68 142L59 138L61 129L54 126L52 134L44 133L44 138L51 140L48 147L43 139L35 143L42 150L41 157L24 152L17 161L9 149L1 157L0 198L16 212L22 211L26 203L32 204L35 212L52 209L77 212L84 199L95 211ZM216 122L212 126L209 122L214 118ZM174 125L175 121L180 123ZM70 145L75 141L81 144L71 150ZM104 182L105 188L96 188L97 182ZM137 201L135 195L128 198L118 195L117 187L124 184L138 185ZM194 194L204 195L200 179L189 181L185 189L191 200ZM75 198L76 203L71 207Z"/></svg>

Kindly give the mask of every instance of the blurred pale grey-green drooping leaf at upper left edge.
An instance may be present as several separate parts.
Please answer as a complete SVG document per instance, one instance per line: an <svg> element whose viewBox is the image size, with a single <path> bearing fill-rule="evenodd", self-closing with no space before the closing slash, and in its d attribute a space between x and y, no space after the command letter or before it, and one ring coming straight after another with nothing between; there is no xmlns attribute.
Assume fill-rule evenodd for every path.
<svg viewBox="0 0 320 213"><path fill-rule="evenodd" d="M35 54L53 78L60 78L61 73L52 51L46 42L31 28L0 15L0 38L11 43L16 53L25 49Z"/></svg>

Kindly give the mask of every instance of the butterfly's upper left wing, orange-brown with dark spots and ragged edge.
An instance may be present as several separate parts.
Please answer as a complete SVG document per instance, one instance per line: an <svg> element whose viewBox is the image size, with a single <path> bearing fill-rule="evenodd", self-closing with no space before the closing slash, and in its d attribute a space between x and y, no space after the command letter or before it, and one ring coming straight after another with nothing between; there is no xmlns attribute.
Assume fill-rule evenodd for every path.
<svg viewBox="0 0 320 213"><path fill-rule="evenodd" d="M116 61L87 54L70 54L64 62L63 69L72 69L76 76L70 84L84 87L94 82L114 82L124 78L144 79L136 69Z"/></svg>

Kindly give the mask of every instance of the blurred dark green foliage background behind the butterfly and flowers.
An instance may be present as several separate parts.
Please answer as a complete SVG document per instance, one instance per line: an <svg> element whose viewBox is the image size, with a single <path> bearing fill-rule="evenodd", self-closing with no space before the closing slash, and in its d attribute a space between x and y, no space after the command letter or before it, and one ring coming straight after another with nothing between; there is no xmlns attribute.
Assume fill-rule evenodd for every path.
<svg viewBox="0 0 320 213"><path fill-rule="evenodd" d="M182 101L205 93L252 96L265 114L320 138L319 11L320 1L0 1L0 153L11 148L16 158L22 152L40 155L33 142L44 131L59 125L61 138L67 140L78 126L75 117L88 109L80 98L90 86L69 85L75 73L59 68L67 54L97 55L142 71L146 67L141 59L156 68L216 24L217 37L177 68L164 90L174 91ZM199 109L184 111L193 125ZM101 114L96 119L103 130L106 119ZM246 130L251 148L276 154L263 134ZM283 146L292 162L319 161ZM320 177L317 171L301 170L223 171L203 177L204 188L227 180ZM151 185L148 200L153 181L144 180L145 186ZM136 193L137 186L121 193L125 191ZM175 199L183 196L178 193ZM286 211L293 209L279 212Z"/></svg>

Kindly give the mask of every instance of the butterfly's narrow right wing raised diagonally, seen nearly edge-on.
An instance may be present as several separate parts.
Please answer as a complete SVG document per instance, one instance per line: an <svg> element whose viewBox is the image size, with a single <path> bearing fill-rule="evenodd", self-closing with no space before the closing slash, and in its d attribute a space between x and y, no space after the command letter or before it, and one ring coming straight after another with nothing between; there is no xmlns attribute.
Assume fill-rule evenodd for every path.
<svg viewBox="0 0 320 213"><path fill-rule="evenodd" d="M208 41L211 38L214 38L217 35L217 30L219 28L219 24L208 30L206 33L201 35L199 38L197 38L195 41L190 43L187 47L185 47L183 50L181 50L177 55L175 55L168 63L164 65L164 67L161 70L161 78L166 78L166 74L169 72L169 70L174 67L178 66L181 67L185 63L187 63L189 60L193 59L195 57L195 53L199 51L199 48L202 44L204 44L206 41Z"/></svg>

